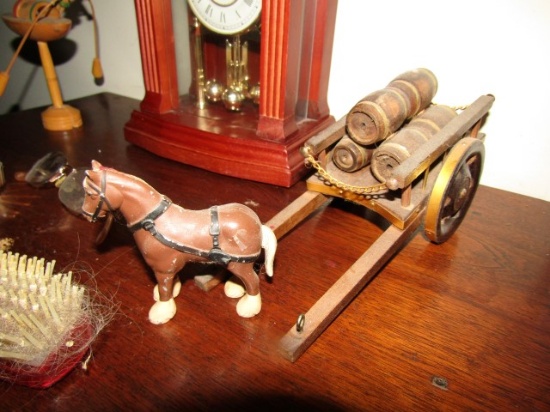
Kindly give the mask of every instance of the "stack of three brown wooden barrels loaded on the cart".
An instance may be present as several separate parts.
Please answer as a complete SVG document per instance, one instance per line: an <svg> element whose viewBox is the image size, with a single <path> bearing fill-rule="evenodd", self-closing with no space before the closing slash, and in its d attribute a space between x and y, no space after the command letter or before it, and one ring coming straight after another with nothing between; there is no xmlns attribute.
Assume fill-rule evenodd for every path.
<svg viewBox="0 0 550 412"><path fill-rule="evenodd" d="M447 106L431 106L436 92L435 75L421 68L361 99L346 117L347 133L334 147L334 164L345 172L371 164L375 177L385 181L456 115Z"/></svg>

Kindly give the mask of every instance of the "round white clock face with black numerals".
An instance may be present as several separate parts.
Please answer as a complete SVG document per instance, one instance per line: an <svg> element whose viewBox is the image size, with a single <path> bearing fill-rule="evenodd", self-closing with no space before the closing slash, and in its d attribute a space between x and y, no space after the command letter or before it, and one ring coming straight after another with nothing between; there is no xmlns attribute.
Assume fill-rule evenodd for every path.
<svg viewBox="0 0 550 412"><path fill-rule="evenodd" d="M206 28L224 35L246 30L262 11L262 0L188 0L188 3Z"/></svg>

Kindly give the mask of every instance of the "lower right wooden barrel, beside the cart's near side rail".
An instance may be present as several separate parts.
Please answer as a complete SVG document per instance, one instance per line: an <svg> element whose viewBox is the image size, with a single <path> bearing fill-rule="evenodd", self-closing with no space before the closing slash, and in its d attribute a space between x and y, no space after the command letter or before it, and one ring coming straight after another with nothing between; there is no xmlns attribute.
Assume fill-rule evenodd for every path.
<svg viewBox="0 0 550 412"><path fill-rule="evenodd" d="M372 153L371 171L381 182L455 116L448 106L430 106L393 134Z"/></svg>

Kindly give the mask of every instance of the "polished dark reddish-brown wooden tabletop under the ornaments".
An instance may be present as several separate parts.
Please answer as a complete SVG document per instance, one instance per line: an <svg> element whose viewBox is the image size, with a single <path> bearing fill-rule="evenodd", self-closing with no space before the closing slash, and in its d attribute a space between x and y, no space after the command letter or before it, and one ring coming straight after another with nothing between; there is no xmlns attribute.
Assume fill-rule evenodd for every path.
<svg viewBox="0 0 550 412"><path fill-rule="evenodd" d="M99 225L69 214L55 188L18 182L42 155L66 153L138 175L188 208L240 202L263 221L305 190L238 180L171 162L124 141L133 101L101 94L71 103L84 127L42 129L40 111L0 117L0 238L13 251L81 270L118 306L77 367L47 390L0 382L8 410L550 410L550 205L481 187L443 245L419 231L295 363L278 342L382 233L384 222L335 199L279 242L262 312L239 318L218 286L188 267L178 313L147 320L153 277L125 227L94 246ZM488 136L491 139L492 136ZM491 156L487 153L487 156ZM85 275L83 274L83 278ZM445 379L442 389L434 377Z"/></svg>

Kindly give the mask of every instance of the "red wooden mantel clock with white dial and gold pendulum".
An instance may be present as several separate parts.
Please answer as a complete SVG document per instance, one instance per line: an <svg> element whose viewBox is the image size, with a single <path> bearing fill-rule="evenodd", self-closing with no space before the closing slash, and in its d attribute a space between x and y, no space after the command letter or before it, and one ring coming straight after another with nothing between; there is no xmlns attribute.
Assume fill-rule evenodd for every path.
<svg viewBox="0 0 550 412"><path fill-rule="evenodd" d="M291 186L333 123L336 0L135 0L145 97L126 139L157 155Z"/></svg>

